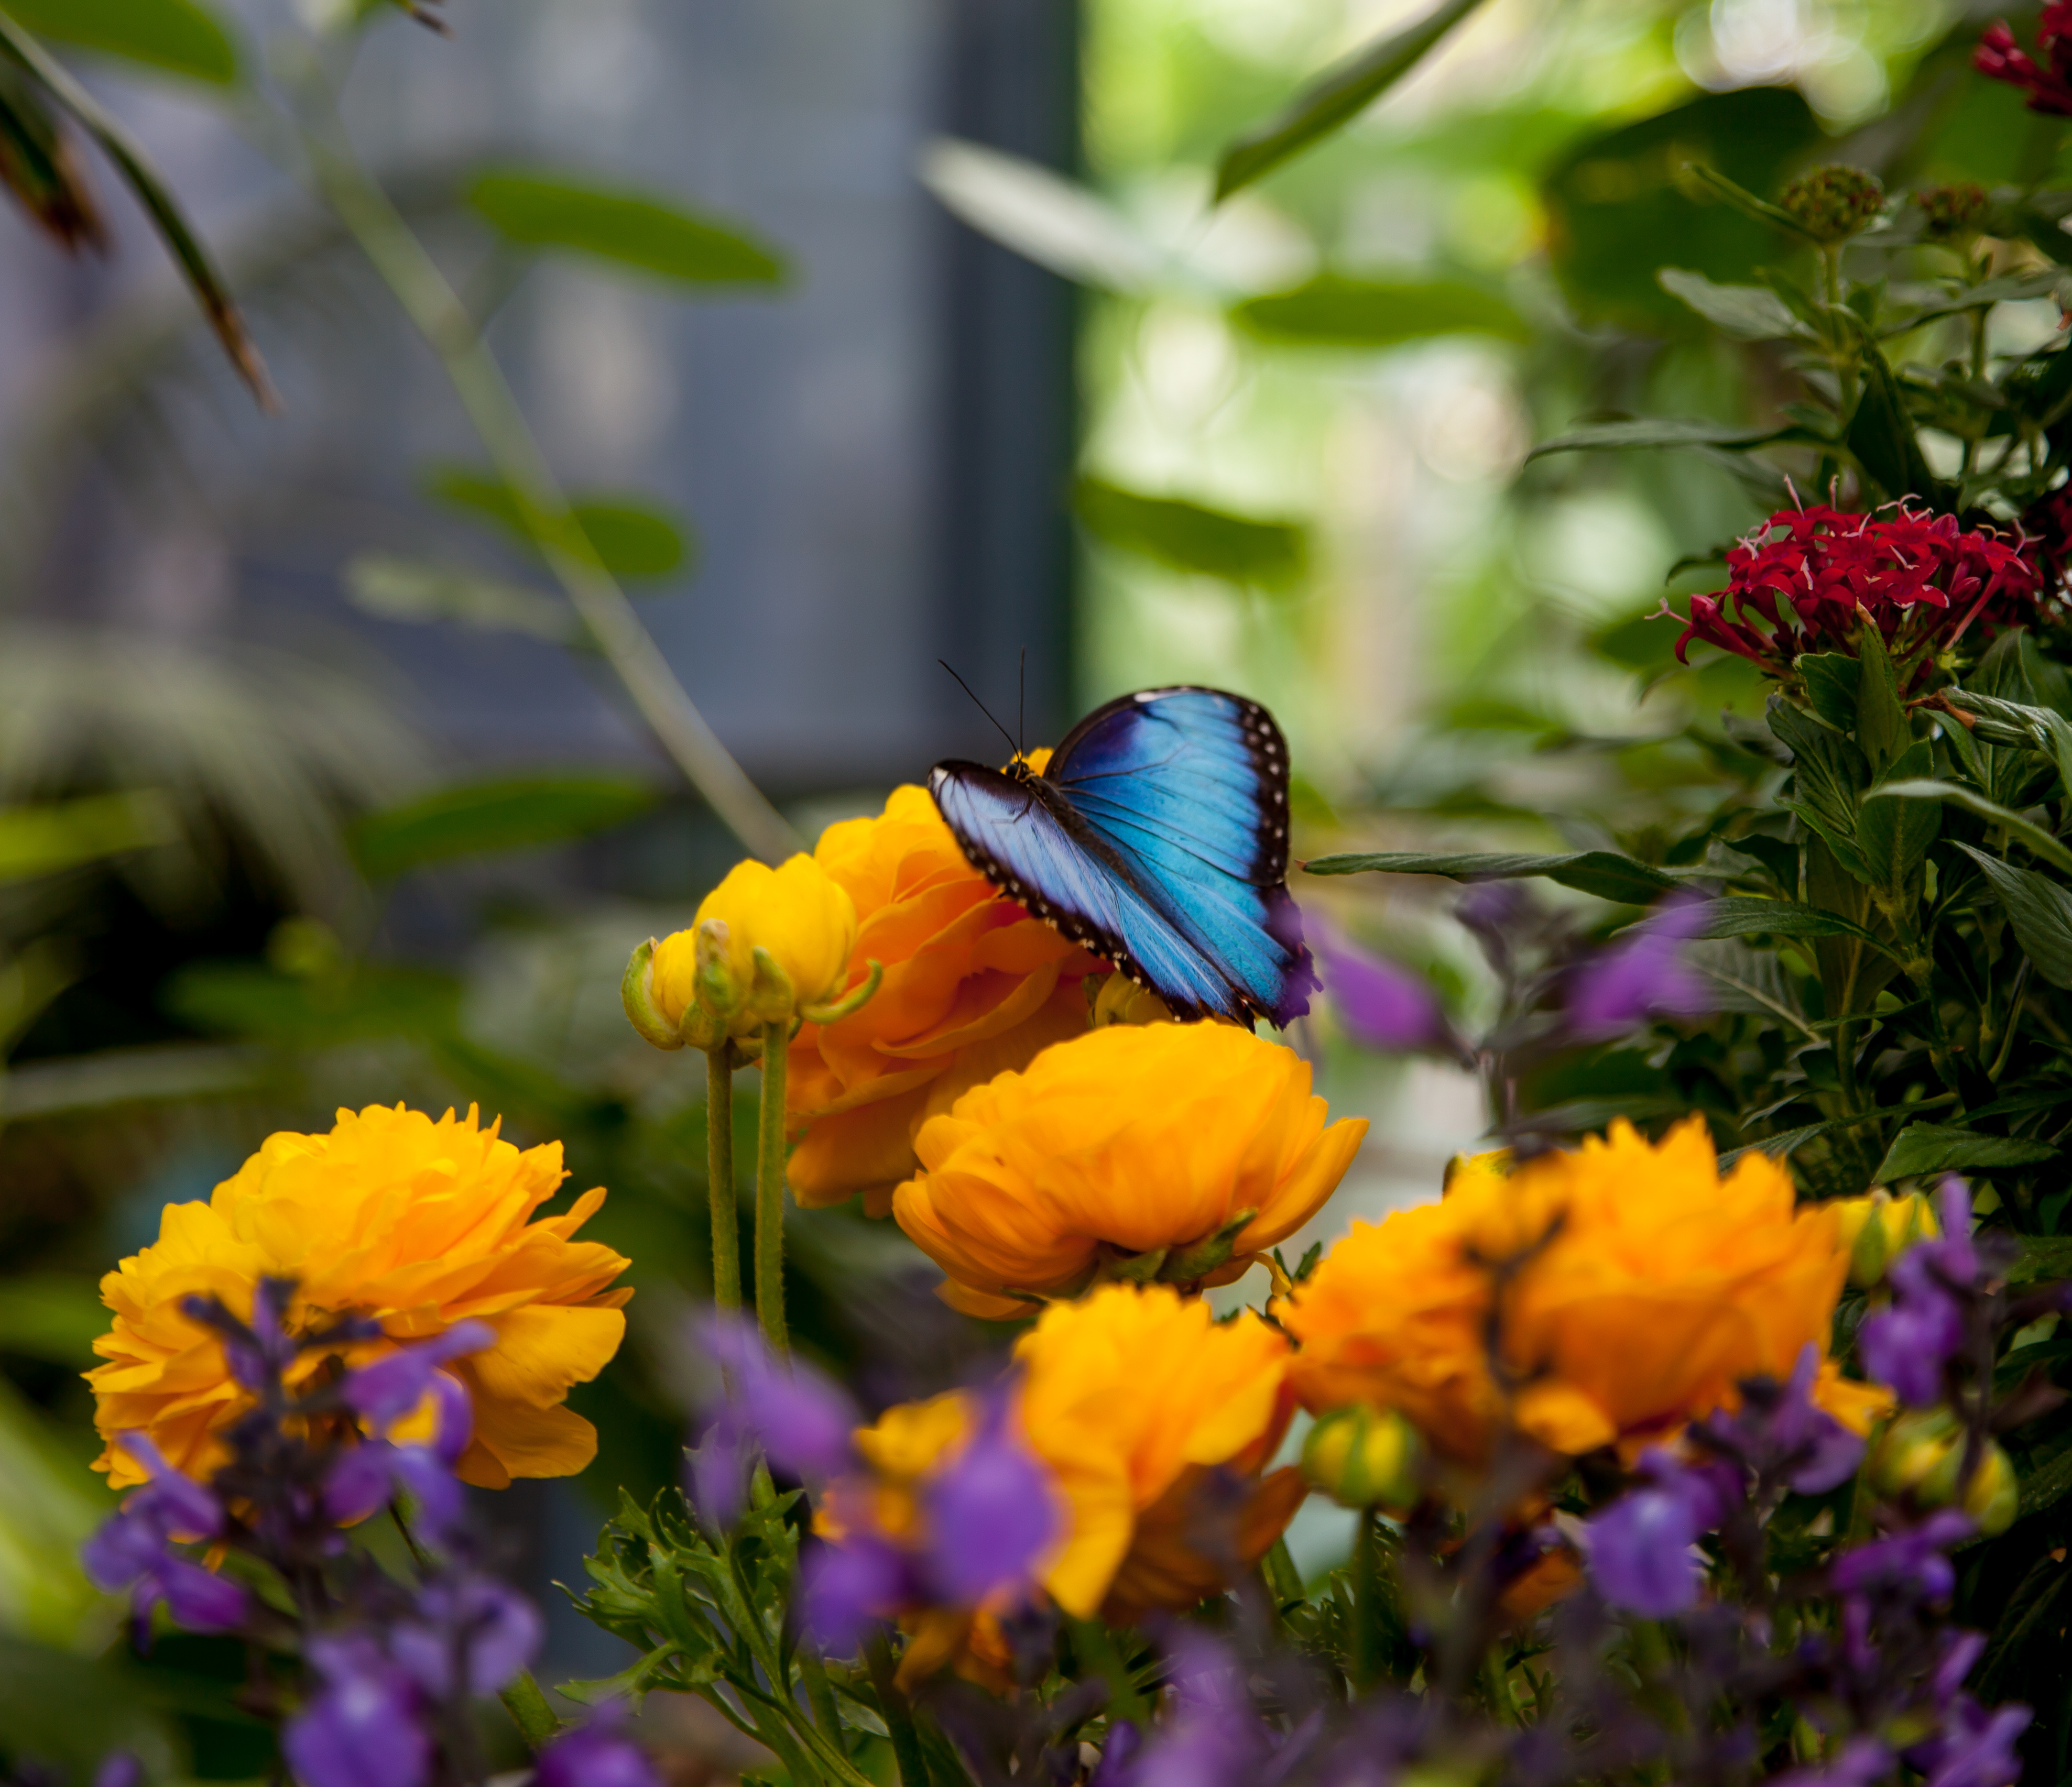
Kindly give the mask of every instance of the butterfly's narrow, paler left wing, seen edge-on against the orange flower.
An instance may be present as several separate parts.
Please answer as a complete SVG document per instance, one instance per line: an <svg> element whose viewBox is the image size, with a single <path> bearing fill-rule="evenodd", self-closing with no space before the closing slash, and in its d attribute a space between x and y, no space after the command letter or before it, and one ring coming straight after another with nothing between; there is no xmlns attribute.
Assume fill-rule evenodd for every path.
<svg viewBox="0 0 2072 1787"><path fill-rule="evenodd" d="M1053 810L1057 791L970 762L937 764L928 787L974 868L1009 899L1156 988L1175 1010L1249 1015L1243 990L1146 899L1127 868L1075 837Z"/></svg>

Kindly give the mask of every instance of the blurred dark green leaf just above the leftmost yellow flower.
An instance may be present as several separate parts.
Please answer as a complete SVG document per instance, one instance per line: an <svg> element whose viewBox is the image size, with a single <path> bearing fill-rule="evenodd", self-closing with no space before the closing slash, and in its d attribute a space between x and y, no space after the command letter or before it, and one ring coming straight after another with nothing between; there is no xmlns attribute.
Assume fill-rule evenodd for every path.
<svg viewBox="0 0 2072 1787"><path fill-rule="evenodd" d="M319 979L257 963L193 963L166 986L166 1010L220 1035L329 1048L383 1035L433 1037L460 1017L460 982L431 969L356 967Z"/></svg>

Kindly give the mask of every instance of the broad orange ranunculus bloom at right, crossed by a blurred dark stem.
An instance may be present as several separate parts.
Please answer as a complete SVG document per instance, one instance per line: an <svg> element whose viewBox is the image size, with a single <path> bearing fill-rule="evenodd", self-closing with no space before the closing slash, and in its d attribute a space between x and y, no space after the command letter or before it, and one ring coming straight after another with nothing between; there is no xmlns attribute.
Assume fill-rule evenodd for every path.
<svg viewBox="0 0 2072 1787"><path fill-rule="evenodd" d="M1647 1143L1614 1122L1575 1153L1463 1162L1440 1203L1353 1224L1278 1311L1314 1410L1399 1408L1459 1462L1504 1420L1490 1373L1492 1267L1523 1261L1500 1311L1523 1385L1510 1416L1556 1452L1637 1445L1728 1406L1745 1377L1823 1354L1848 1249L1832 1207L1745 1153L1720 1176L1703 1118ZM1821 1402L1859 1431L1877 1400L1830 1369Z"/></svg>

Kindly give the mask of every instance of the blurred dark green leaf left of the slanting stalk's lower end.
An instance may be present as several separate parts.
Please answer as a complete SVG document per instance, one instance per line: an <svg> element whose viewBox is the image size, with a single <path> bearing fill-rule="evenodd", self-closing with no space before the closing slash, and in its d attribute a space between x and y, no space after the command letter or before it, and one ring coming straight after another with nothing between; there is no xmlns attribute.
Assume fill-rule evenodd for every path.
<svg viewBox="0 0 2072 1787"><path fill-rule="evenodd" d="M352 828L352 855L371 880L390 880L423 863L611 830L655 803L655 789L640 777L497 777L367 814Z"/></svg>

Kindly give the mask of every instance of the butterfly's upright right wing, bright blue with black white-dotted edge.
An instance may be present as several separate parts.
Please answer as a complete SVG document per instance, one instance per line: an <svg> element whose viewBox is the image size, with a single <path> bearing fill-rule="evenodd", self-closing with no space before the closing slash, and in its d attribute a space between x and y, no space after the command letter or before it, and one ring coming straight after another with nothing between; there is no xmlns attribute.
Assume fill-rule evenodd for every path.
<svg viewBox="0 0 2072 1787"><path fill-rule="evenodd" d="M1280 1025L1307 1010L1316 973L1285 884L1289 754L1266 708L1142 690L1073 727L1044 781L1247 1010Z"/></svg>

